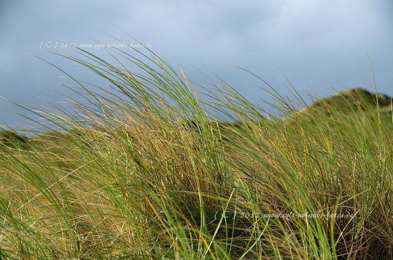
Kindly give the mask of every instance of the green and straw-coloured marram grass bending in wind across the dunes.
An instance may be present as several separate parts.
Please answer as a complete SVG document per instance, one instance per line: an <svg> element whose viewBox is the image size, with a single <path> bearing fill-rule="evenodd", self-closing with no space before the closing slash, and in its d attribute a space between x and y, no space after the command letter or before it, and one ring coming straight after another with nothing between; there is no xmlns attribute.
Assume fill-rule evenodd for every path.
<svg viewBox="0 0 393 260"><path fill-rule="evenodd" d="M3 131L1 259L393 259L391 100L354 90L298 112L267 85L279 118L222 80L202 99L154 53L109 51L132 65L64 57L111 92L75 79L83 102L37 112L59 130Z"/></svg>

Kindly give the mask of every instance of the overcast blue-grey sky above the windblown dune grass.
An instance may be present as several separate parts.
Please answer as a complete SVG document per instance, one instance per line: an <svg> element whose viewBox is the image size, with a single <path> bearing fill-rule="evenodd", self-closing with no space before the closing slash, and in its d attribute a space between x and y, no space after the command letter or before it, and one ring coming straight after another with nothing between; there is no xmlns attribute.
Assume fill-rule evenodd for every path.
<svg viewBox="0 0 393 260"><path fill-rule="evenodd" d="M2 0L0 126L31 125L23 116L32 113L13 103L39 107L62 100L56 91L73 95L57 83L65 82L64 74L48 62L107 87L49 53L68 52L62 43L69 43L106 57L104 48L89 46L94 40L138 40L170 62L175 58L189 78L211 71L257 103L265 97L253 84L263 83L230 64L280 95L290 95L288 79L300 93L326 97L355 87L374 92L370 60L377 91L392 96L392 13L391 0Z"/></svg>

